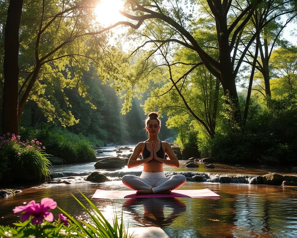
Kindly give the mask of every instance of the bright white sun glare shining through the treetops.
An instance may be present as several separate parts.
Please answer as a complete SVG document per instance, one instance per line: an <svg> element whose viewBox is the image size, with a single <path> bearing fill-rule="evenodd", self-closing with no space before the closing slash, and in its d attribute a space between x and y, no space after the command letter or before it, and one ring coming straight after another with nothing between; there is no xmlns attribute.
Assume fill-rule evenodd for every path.
<svg viewBox="0 0 297 238"><path fill-rule="evenodd" d="M122 0L101 0L95 8L96 20L103 26L110 26L124 19L118 11L123 9Z"/></svg>

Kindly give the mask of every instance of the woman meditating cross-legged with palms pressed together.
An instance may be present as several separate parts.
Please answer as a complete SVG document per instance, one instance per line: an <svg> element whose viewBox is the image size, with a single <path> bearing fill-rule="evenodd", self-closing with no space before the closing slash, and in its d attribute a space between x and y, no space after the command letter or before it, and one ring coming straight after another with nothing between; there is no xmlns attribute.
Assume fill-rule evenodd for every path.
<svg viewBox="0 0 297 238"><path fill-rule="evenodd" d="M158 132L161 121L156 112L149 113L145 120L145 129L149 133L149 139L136 145L133 154L128 161L128 168L133 168L143 164L143 171L140 177L135 175L124 175L123 184L137 190L136 194L150 193L171 193L186 182L186 177L182 174L165 176L163 164L179 167L179 161L171 146L167 142L158 139ZM137 160L139 155L142 160ZM165 159L167 154L169 159Z"/></svg>

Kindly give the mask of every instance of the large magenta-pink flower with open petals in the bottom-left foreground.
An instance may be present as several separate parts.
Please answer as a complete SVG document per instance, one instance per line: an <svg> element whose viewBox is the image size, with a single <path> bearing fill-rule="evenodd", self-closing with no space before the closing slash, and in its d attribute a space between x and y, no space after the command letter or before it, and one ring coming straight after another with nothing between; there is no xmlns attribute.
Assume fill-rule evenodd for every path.
<svg viewBox="0 0 297 238"><path fill-rule="evenodd" d="M24 212L21 216L21 222L28 220L33 216L31 222L32 224L41 224L43 220L52 222L54 221L54 215L49 212L49 209L55 209L57 207L57 202L49 197L42 198L40 203L35 203L34 200L29 202L25 206L17 206L13 209L14 213Z"/></svg>

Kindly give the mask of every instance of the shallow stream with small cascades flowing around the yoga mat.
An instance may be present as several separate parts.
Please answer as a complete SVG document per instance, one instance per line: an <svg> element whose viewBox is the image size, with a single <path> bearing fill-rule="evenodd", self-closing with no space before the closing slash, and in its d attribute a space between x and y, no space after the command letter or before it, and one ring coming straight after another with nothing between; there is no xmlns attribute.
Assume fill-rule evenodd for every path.
<svg viewBox="0 0 297 238"><path fill-rule="evenodd" d="M100 157L116 155L114 149L105 147ZM131 152L123 152L128 153ZM187 182L181 189L209 188L219 194L220 199L138 198L98 199L93 202L111 223L114 211L118 217L123 211L126 227L128 223L129 227L161 227L171 238L297 237L297 187L253 184L256 175L269 172L292 174L290 167L215 164L215 169L207 169L204 164L199 164L198 168L187 168L187 163L180 161L179 168L164 165L166 175L184 174ZM42 197L53 198L72 216L88 221L87 214L71 193L83 201L79 191L90 198L99 188L126 190L120 178L124 174L140 175L142 171L142 166L96 170L94 164L55 165L50 169L54 176L51 183L15 187L22 192L0 199L0 224L19 220L19 214L12 212L15 206L31 200L39 202ZM86 181L85 178L93 171L100 171L111 181ZM201 176L202 183L192 182L196 175ZM59 212L55 209L53 213L56 218Z"/></svg>

